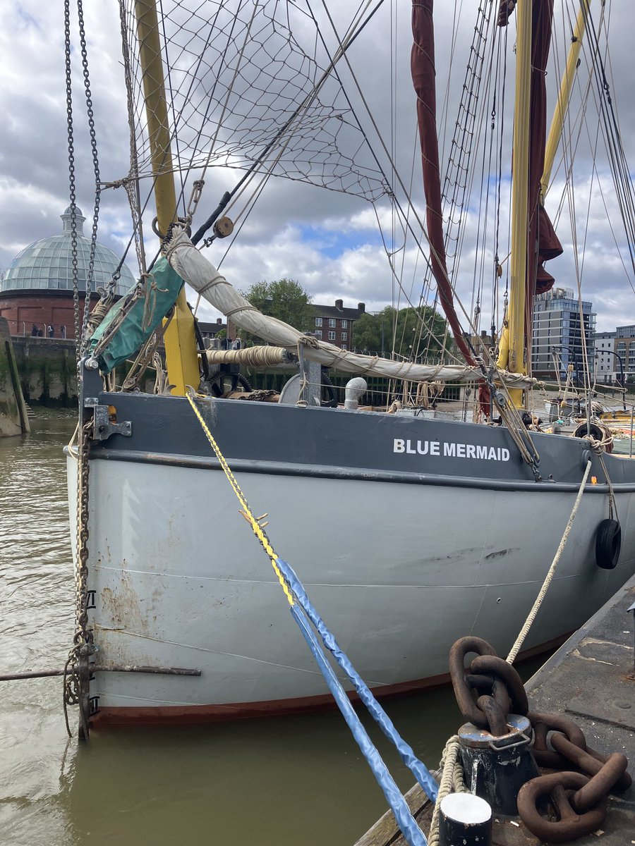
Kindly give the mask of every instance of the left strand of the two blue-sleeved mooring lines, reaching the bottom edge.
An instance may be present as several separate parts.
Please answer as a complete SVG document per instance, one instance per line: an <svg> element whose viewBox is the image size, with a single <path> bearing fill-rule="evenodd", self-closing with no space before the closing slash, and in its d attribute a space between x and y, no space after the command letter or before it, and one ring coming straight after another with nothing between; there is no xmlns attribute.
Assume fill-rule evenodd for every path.
<svg viewBox="0 0 635 846"><path fill-rule="evenodd" d="M280 559L279 563L280 562ZM295 591L294 591L295 592ZM299 598L299 597L298 597ZM381 755L375 749L373 741L368 737L366 729L362 726L360 718L357 717L355 709L351 705L351 700L345 694L345 690L340 684L339 679L326 660L317 638L312 631L310 625L301 609L297 605L290 607L290 612L295 618L295 622L300 627L304 639L312 651L312 655L317 662L317 666L322 670L326 683L329 685L329 690L334 696L334 700L340 707L340 711L351 729L353 737L356 739L357 745L362 750L362 755L366 758L368 766L373 771L374 777L377 779L379 787L382 788L386 801L395 814L401 832L403 833L409 846L428 846L428 841L425 838L422 830L417 826L417 822L411 815L410 809L406 804L401 794L400 789L395 784L395 780L388 772L388 767L384 764Z"/></svg>

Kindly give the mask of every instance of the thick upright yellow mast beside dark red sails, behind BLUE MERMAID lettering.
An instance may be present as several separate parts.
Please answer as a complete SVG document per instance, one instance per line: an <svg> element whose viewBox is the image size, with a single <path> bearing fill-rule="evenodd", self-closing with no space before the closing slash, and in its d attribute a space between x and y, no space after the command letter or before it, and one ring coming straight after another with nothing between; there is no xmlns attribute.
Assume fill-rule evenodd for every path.
<svg viewBox="0 0 635 846"><path fill-rule="evenodd" d="M500 339L498 365L527 373L525 351L525 287L527 285L527 201L529 179L529 107L532 58L532 3L516 6L516 107L514 159L511 180L511 283L507 321ZM516 408L523 406L523 392L510 388Z"/></svg>

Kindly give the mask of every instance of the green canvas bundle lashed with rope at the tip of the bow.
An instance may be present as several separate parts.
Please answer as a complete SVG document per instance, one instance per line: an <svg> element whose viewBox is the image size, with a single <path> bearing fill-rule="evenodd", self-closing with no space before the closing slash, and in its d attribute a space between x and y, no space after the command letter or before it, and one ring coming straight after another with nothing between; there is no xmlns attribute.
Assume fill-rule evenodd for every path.
<svg viewBox="0 0 635 846"><path fill-rule="evenodd" d="M146 284L148 286L146 297L137 299L128 314L124 316L124 321L113 338L110 339L108 347L97 356L99 369L102 373L110 373L113 367L129 359L130 356L141 349L176 302L184 282L179 274L169 266L168 261L162 257L152 268ZM129 291L129 294L132 293L132 290ZM99 324L88 343L89 354L92 353L103 333L119 314L129 294L119 299L119 302L113 305L113 308L108 311L108 314Z"/></svg>

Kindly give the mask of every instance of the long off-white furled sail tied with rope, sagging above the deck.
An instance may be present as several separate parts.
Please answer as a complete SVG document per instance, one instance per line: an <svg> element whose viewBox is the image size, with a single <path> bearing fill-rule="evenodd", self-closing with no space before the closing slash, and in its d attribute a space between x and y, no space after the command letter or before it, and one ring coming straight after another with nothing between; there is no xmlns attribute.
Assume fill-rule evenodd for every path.
<svg viewBox="0 0 635 846"><path fill-rule="evenodd" d="M350 350L339 349L332 343L307 337L287 323L263 315L199 250L196 250L182 228L174 226L173 232L166 258L174 271L215 309L225 316L231 316L237 327L257 335L258 338L264 338L268 343L290 350L295 350L302 344L307 359L349 373L368 373L412 382L430 379L440 379L444 382L471 381L483 376L477 366L420 365L411 361L392 361L376 355L352 353ZM531 387L536 382L528 376L506 371L497 371L496 378L513 387Z"/></svg>

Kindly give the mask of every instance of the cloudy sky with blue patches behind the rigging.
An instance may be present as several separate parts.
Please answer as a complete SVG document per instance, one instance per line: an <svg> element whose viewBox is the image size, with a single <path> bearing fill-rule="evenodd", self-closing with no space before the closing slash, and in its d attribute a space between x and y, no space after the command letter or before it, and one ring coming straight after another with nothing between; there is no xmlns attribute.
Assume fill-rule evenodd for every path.
<svg viewBox="0 0 635 846"><path fill-rule="evenodd" d="M554 57L562 63L569 36L567 15L573 0L555 0ZM635 162L635 101L632 98L634 75L632 45L625 25L632 0L606 0L605 25L610 35L611 96L619 114L621 135L628 162ZM73 5L73 3L71 3ZM197 5L197 4L195 4ZM337 5L337 13L334 8ZM435 26L437 30L437 96L439 127L442 115L447 115L451 127L456 121L456 92L461 91L466 56L474 27L474 3L467 0L437 0ZM593 0L592 11L599 17L601 0ZM299 8L301 3L297 3ZM324 17L321 3L314 3ZM356 3L329 3L334 23L343 31L351 19ZM413 208L423 216L420 159L415 152L415 96L409 79L410 16L408 4L390 3L373 18L362 36L350 48L351 68L377 121L386 150L393 155L395 165L406 185L412 185ZM84 0L88 59L91 72L97 144L102 181L123 177L129 168L129 133L119 41L119 9L114 0ZM75 46L75 12L72 15ZM333 35L323 19L327 41L333 47ZM299 29L307 43L311 41L309 23ZM311 30L312 31L312 30ZM308 35L307 35L308 34ZM392 36L392 37L391 37ZM508 85L513 77L512 46L516 25L509 31L510 55L507 63ZM77 202L89 218L93 203L93 171L91 148L86 134L85 103L82 103L82 77L79 51L73 52L75 174ZM451 60L451 62L450 62ZM3 14L0 30L0 63L3 86L0 104L3 114L3 133L0 135L0 217L3 243L0 245L0 269L6 269L14 255L27 244L61 231L59 215L69 203L69 152L67 138L67 103L64 80L63 4L41 3L41 0L22 0L11 3ZM583 79L586 59L579 73ZM341 70L345 90L361 119L367 137L389 179L393 173L388 156L371 118L362 105L351 70L343 63ZM550 115L555 102L555 67L547 75ZM448 80L450 84L448 85ZM257 80L252 80L257 85ZM446 89L450 89L444 110ZM574 96L575 101L575 96ZM549 271L556 284L577 289L581 279L584 299L590 299L597 312L597 328L609 331L616 325L635 322L635 294L633 274L627 261L626 236L616 195L610 184L604 151L596 145L598 118L594 112L594 97L589 100L587 126L577 136L577 158L573 170L574 189L568 193L562 178L564 168L555 173L549 190L547 208L552 219L558 219L558 234L565 255L552 261ZM579 104L572 107L577 115ZM502 117L502 116L501 116ZM394 118L394 119L393 119ZM573 118L572 118L573 120ZM505 139L509 138L511 119L505 118ZM487 127L487 122L486 122ZM359 138L351 133L351 148ZM598 146L595 157L591 151ZM447 145L446 145L447 147ZM360 153L362 163L370 162L369 153ZM479 148L478 155L483 156ZM595 169L593 161L595 158ZM227 162L226 162L227 163ZM509 201L507 198L509 162L505 159L503 191L500 206L500 230L508 231ZM207 217L225 190L231 190L240 172L235 168L210 168L206 173L194 227ZM492 182L492 186L494 182ZM463 258L457 271L457 292L466 310L471 309L472 280L480 266L485 268L483 283L483 328L489 327L491 308L491 267L494 261L494 188L490 186L490 202L483 211L477 195L478 185L467 205L466 236ZM148 187L147 180L142 191ZM600 190L601 187L601 190ZM482 193L482 192L481 192ZM398 199L405 204L403 192ZM591 202L589 204L589 195ZM564 199L564 201L563 201ZM560 211L559 211L560 209ZM575 211L575 214L573 213ZM240 215L240 206L233 213ZM230 216L232 214L230 212ZM486 236L477 241L483 216L488 217ZM572 217L576 220L575 238ZM425 261L413 239L400 237L399 223L391 217L389 204L379 202L373 208L359 197L323 190L309 184L282 179L270 179L265 185L253 211L239 217L240 232L225 256L227 242L216 241L206 255L218 264L236 288L245 291L262 280L290 277L306 288L314 302L332 303L344 299L345 306L364 302L369 311L385 305L417 304L424 280ZM384 241L378 232L377 221L383 224ZM410 222L417 229L417 221L410 212ZM146 220L146 230L149 220ZM129 243L130 212L124 190L102 192L99 240L120 254ZM577 250L576 250L577 244ZM156 240L148 241L148 253L156 250ZM386 252L391 254L395 273L391 272ZM576 261L577 255L577 261ZM128 261L135 272L134 250ZM400 281L398 281L398 277ZM401 288L400 288L401 286ZM501 288L502 291L502 288ZM196 295L190 297L196 302ZM212 320L217 312L202 305L198 316Z"/></svg>

